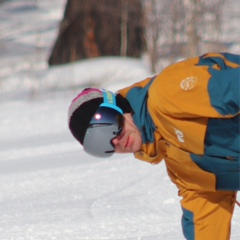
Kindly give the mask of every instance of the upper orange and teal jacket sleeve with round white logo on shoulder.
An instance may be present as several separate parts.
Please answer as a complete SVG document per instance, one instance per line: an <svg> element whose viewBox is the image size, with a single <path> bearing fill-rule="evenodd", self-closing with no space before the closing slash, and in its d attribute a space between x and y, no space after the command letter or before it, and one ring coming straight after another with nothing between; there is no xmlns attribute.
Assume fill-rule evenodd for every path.
<svg viewBox="0 0 240 240"><path fill-rule="evenodd" d="M175 118L228 118L239 114L240 67L217 68L215 62L189 59L160 73L150 89L150 101ZM212 60L212 59L211 59ZM221 59L221 61L223 61ZM201 64L200 64L201 63Z"/></svg>

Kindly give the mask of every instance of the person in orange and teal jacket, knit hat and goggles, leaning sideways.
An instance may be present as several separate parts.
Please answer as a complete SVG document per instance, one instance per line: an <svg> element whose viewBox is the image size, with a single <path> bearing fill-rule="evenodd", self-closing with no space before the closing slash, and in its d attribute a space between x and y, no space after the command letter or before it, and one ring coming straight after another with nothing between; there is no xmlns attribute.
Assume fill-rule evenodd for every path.
<svg viewBox="0 0 240 240"><path fill-rule="evenodd" d="M230 239L240 189L240 55L207 53L119 90L87 88L68 124L96 157L133 153L158 164L182 197L188 240Z"/></svg>

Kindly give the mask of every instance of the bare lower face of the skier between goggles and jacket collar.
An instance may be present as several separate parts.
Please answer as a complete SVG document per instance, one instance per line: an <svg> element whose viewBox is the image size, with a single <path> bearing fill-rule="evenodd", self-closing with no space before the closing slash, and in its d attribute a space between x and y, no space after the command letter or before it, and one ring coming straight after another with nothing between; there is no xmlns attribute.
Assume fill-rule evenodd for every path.
<svg viewBox="0 0 240 240"><path fill-rule="evenodd" d="M142 136L133 122L130 113L124 114L124 126L121 134L112 140L116 153L135 153L142 146Z"/></svg>

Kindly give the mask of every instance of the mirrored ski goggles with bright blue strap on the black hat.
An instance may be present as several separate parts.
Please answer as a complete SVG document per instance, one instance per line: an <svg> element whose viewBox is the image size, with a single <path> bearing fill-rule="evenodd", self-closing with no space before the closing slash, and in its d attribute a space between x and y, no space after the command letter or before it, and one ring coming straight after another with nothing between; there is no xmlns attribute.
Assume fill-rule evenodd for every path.
<svg viewBox="0 0 240 240"><path fill-rule="evenodd" d="M93 115L83 139L84 150L95 157L110 157L115 152L112 139L123 127L123 111L116 105L116 95L103 91L103 103Z"/></svg>

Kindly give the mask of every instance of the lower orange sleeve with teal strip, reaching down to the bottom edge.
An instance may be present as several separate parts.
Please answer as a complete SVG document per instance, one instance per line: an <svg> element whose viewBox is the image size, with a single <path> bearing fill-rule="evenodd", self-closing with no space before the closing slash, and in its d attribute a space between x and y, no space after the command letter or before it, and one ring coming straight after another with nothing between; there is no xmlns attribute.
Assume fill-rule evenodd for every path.
<svg viewBox="0 0 240 240"><path fill-rule="evenodd" d="M180 190L182 228L187 240L229 240L235 192Z"/></svg>

